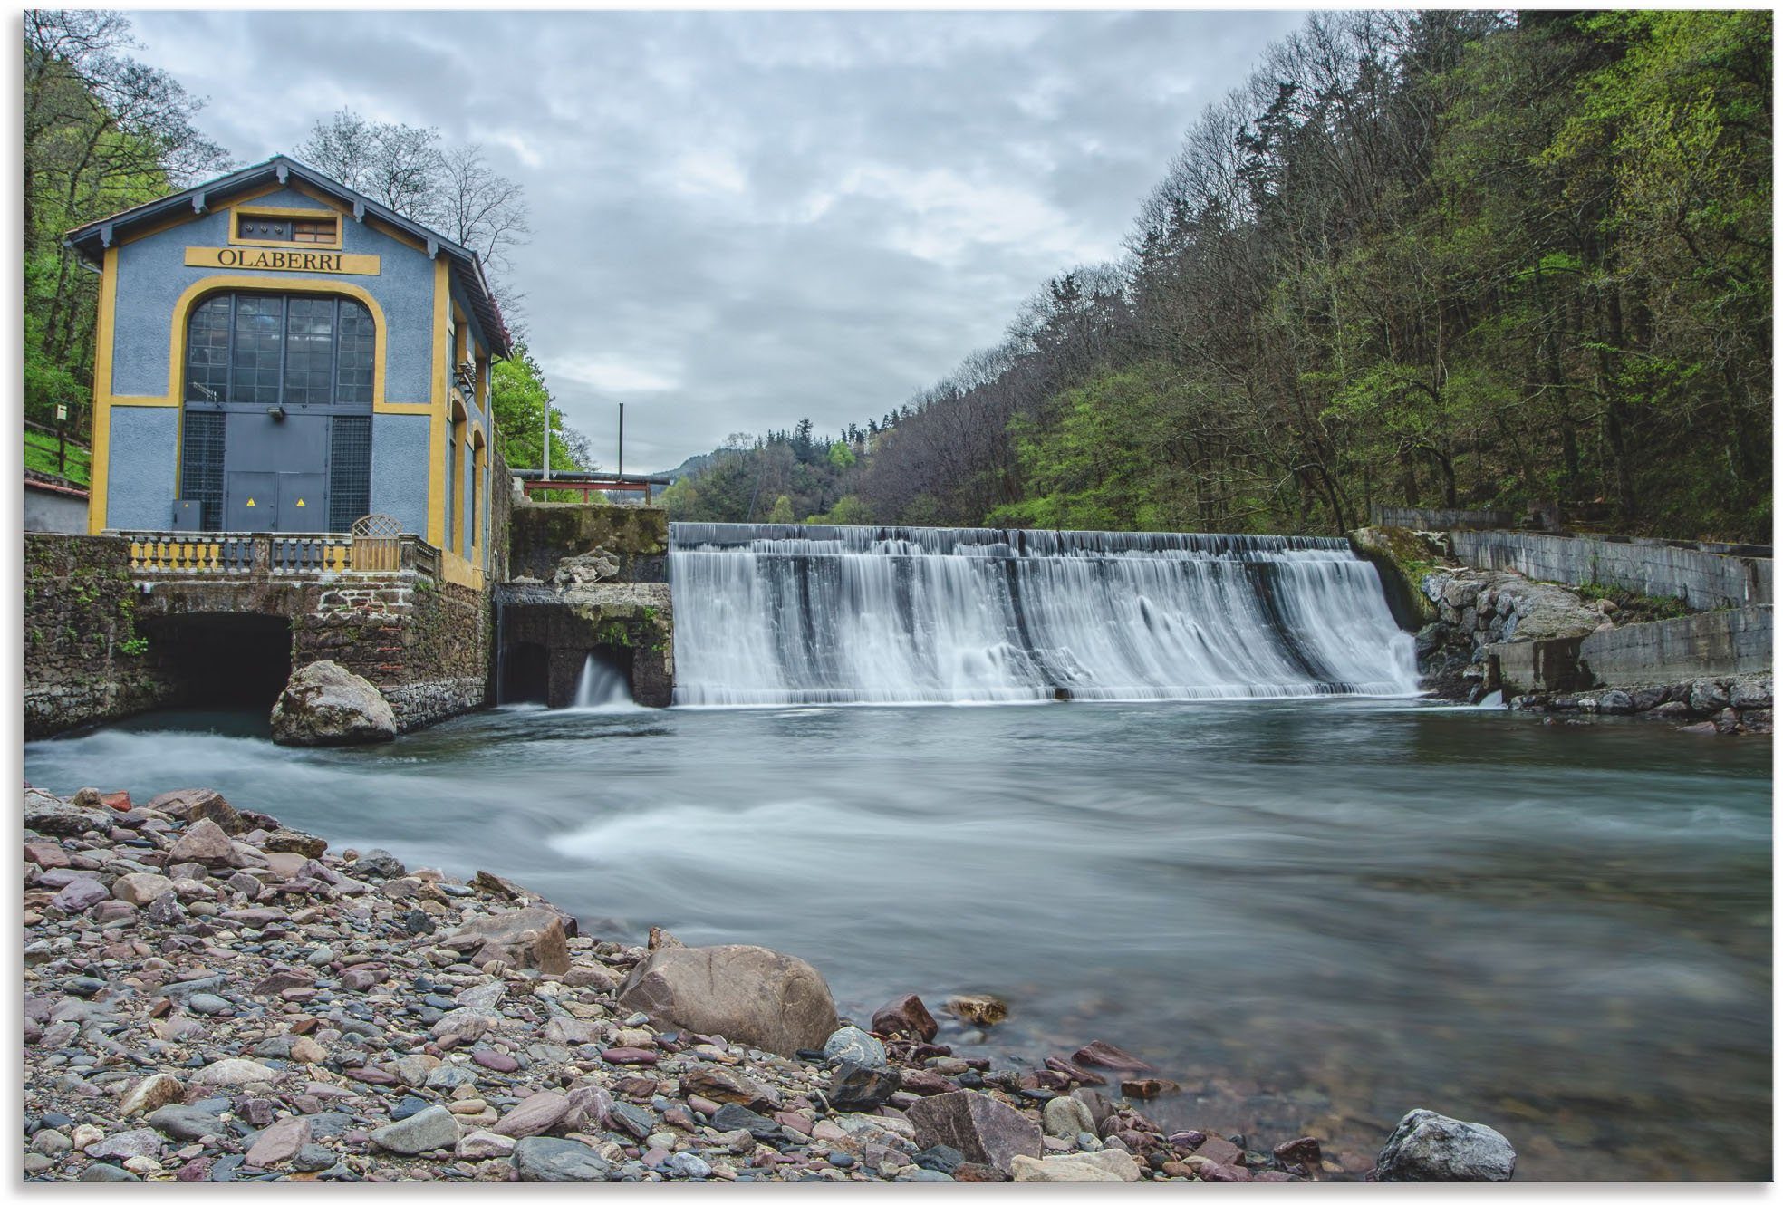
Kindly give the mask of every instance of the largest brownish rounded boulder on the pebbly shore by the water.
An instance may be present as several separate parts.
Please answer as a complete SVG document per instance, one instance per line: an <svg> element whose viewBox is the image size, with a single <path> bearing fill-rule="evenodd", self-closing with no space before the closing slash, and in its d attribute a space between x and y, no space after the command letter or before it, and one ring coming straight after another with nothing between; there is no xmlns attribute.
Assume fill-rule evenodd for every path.
<svg viewBox="0 0 1783 1205"><path fill-rule="evenodd" d="M822 1050L836 1032L836 1002L817 968L758 945L654 950L631 968L619 1004L786 1057Z"/></svg>

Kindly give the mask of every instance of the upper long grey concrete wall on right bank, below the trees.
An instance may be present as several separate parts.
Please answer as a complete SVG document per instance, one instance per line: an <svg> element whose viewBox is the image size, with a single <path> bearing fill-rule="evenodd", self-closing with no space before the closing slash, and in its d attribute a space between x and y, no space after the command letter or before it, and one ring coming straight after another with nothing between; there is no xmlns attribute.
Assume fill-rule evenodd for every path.
<svg viewBox="0 0 1783 1205"><path fill-rule="evenodd" d="M1475 569L1514 569L1539 581L1621 586L1683 599L1697 610L1769 604L1771 562L1658 542L1523 531L1455 531L1455 558Z"/></svg>

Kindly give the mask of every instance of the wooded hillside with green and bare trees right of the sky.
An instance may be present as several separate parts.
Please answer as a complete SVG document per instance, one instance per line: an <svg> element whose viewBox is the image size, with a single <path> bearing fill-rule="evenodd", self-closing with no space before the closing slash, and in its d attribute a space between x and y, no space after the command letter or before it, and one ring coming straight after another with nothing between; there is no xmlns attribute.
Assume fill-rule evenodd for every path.
<svg viewBox="0 0 1783 1205"><path fill-rule="evenodd" d="M744 442L670 506L1332 533L1562 499L1769 542L1771 53L1763 11L1316 14L1187 130L1120 264L847 465Z"/></svg>

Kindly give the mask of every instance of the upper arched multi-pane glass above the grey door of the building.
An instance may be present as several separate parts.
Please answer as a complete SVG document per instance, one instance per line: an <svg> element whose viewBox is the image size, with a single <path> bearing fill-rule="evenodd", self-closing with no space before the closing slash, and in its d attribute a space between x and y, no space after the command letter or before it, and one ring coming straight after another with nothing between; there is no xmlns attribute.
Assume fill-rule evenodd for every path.
<svg viewBox="0 0 1783 1205"><path fill-rule="evenodd" d="M185 332L185 401L371 412L371 312L353 298L219 292Z"/></svg>

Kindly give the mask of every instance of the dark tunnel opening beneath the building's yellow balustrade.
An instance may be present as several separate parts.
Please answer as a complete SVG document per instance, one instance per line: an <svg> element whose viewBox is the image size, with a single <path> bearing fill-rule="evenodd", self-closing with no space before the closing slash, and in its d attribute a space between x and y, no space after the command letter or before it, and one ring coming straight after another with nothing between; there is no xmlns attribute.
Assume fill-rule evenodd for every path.
<svg viewBox="0 0 1783 1205"><path fill-rule="evenodd" d="M144 619L143 627L178 667L180 704L271 717L291 677L291 622L283 615L168 615Z"/></svg>

